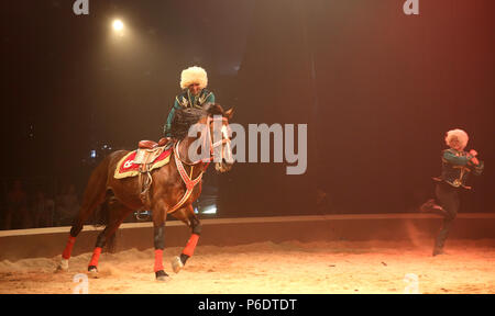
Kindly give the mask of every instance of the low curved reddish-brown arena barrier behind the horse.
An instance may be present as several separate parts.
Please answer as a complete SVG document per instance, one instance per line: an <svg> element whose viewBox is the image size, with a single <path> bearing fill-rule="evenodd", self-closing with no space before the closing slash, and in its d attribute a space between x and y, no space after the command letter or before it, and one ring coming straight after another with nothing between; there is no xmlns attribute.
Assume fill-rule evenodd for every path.
<svg viewBox="0 0 495 316"><path fill-rule="evenodd" d="M201 219L201 245L234 246L252 242L302 242L320 240L407 240L433 238L441 218L430 214L348 214L286 217L246 217ZM85 226L76 240L73 256L92 251L102 228ZM53 258L64 250L70 227L0 230L0 260ZM189 228L179 221L168 221L165 247L182 247ZM495 214L459 214L449 238L495 238ZM152 223L122 224L117 233L114 251L153 247Z"/></svg>

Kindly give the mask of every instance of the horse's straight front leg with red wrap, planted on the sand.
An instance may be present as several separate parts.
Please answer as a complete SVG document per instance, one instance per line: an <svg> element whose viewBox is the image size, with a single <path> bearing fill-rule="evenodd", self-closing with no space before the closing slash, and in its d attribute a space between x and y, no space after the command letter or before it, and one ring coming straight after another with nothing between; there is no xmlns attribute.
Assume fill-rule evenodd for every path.
<svg viewBox="0 0 495 316"><path fill-rule="evenodd" d="M158 203L157 207L153 207L153 242L155 247L155 278L156 281L167 281L168 274L163 268L163 250L165 249L165 207L161 207L163 203Z"/></svg>

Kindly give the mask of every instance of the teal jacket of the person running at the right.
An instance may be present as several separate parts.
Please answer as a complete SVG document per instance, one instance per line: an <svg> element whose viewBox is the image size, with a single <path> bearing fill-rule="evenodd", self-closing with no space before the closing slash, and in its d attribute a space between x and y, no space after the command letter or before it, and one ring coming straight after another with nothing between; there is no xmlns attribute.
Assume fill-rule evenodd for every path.
<svg viewBox="0 0 495 316"><path fill-rule="evenodd" d="M469 188L465 185L468 174L473 172L475 176L480 176L484 168L483 161L474 165L471 161L472 158L473 156L466 151L459 151L452 148L443 150L441 180L455 188Z"/></svg>

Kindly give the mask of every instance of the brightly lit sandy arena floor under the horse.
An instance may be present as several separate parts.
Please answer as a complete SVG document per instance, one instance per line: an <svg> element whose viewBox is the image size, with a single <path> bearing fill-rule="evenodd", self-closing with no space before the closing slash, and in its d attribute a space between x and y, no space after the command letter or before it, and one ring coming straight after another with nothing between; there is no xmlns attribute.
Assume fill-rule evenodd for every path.
<svg viewBox="0 0 495 316"><path fill-rule="evenodd" d="M447 253L431 257L431 240L260 242L234 247L198 246L178 273L164 252L166 283L156 282L153 250L100 257L99 278L89 293L495 293L495 240L449 240ZM0 262L0 293L73 293L91 253L70 259L68 272L54 273L59 256ZM417 283L407 283L414 273ZM407 287L410 286L416 287Z"/></svg>

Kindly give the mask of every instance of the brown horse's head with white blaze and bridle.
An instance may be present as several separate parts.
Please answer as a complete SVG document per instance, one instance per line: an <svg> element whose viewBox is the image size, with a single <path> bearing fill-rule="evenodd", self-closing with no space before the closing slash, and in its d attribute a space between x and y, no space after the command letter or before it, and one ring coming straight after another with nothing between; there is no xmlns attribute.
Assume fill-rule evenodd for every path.
<svg viewBox="0 0 495 316"><path fill-rule="evenodd" d="M210 142L210 157L215 162L215 169L220 172L227 172L234 162L232 147L230 146L231 129L229 120L233 116L233 109L223 111L223 108L217 103L208 103L204 106L207 115L202 123L207 124Z"/></svg>

